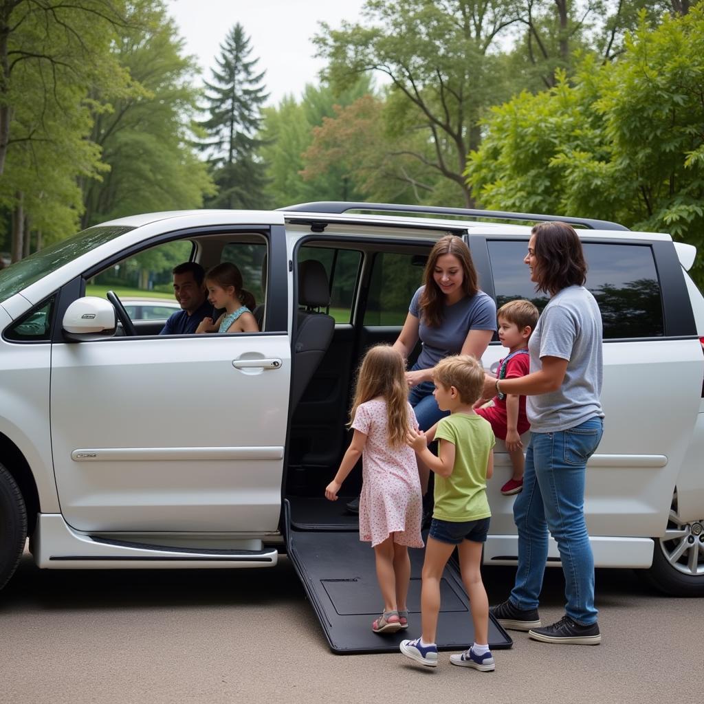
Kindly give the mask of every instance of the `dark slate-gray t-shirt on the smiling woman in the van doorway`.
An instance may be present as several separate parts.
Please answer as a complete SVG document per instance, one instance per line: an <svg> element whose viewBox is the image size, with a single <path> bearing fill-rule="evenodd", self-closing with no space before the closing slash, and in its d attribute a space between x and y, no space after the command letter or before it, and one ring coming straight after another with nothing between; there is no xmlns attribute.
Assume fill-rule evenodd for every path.
<svg viewBox="0 0 704 704"><path fill-rule="evenodd" d="M426 325L419 303L423 289L425 286L415 292L408 308L420 320L418 337L422 342L422 350L417 361L419 369L430 369L448 355L459 354L470 329L496 330L496 303L484 291L477 291L474 296L465 296L452 306L445 304L441 325Z"/></svg>

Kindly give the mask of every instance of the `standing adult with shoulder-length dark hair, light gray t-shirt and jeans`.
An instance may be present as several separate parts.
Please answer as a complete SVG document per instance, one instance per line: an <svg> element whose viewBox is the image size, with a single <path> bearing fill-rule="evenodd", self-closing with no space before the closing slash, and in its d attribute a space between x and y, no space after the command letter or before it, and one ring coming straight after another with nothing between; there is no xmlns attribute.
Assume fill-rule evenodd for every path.
<svg viewBox="0 0 704 704"><path fill-rule="evenodd" d="M530 373L486 377L485 396L528 396L531 439L523 491L513 504L518 567L513 591L491 613L505 628L548 643L596 645L594 560L584 520L586 462L603 433L601 313L584 288L586 262L577 232L564 222L536 225L524 259L536 291L551 296L528 343ZM541 627L538 598L548 558L548 530L565 573L565 616Z"/></svg>

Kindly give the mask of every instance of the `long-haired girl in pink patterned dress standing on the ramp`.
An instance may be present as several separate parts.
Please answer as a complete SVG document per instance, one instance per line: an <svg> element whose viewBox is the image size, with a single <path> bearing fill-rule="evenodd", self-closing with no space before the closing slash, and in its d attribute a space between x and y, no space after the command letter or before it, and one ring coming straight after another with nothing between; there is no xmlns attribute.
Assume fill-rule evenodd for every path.
<svg viewBox="0 0 704 704"><path fill-rule="evenodd" d="M422 548L422 499L415 452L406 445L409 428L417 430L408 403L406 367L401 353L388 345L372 347L357 375L350 412L354 430L335 478L325 497L337 501L342 482L362 457L359 539L372 543L382 615L372 623L375 633L408 628L408 548Z"/></svg>

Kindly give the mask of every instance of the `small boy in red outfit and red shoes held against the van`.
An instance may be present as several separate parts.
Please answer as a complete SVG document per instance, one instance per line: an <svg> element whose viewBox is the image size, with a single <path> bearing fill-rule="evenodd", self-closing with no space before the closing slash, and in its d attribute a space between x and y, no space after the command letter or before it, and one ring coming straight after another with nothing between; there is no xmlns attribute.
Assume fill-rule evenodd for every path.
<svg viewBox="0 0 704 704"><path fill-rule="evenodd" d="M497 379L524 377L529 372L528 340L538 322L538 316L538 309L530 301L509 301L498 309L498 339L504 347L508 347L508 355L499 360ZM505 441L513 465L513 475L501 487L501 494L518 494L523 489L525 461L520 436L530 427L526 417L526 397L498 394L486 406L474 410L491 423L494 435Z"/></svg>

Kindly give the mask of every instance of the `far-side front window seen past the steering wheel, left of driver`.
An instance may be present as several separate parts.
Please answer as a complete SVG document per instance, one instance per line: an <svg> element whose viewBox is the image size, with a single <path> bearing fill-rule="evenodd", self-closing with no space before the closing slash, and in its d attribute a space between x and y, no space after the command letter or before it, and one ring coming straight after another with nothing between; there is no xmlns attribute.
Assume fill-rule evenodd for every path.
<svg viewBox="0 0 704 704"><path fill-rule="evenodd" d="M86 296L115 291L132 320L166 320L180 310L171 270L191 258L190 241L167 242L123 259L86 284Z"/></svg>

